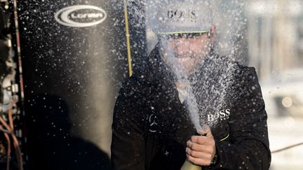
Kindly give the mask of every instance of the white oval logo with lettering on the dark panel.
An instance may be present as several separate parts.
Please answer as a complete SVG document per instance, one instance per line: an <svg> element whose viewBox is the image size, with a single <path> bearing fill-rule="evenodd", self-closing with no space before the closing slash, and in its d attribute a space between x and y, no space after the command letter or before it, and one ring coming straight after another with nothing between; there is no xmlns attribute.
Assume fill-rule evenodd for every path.
<svg viewBox="0 0 303 170"><path fill-rule="evenodd" d="M68 27L91 27L100 24L106 17L105 10L88 5L68 6L55 13L55 20Z"/></svg>

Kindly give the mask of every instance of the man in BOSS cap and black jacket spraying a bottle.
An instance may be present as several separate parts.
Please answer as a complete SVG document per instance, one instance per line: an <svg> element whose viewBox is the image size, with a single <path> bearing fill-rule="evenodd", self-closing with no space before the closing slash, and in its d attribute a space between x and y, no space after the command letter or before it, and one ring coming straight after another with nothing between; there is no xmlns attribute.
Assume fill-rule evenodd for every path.
<svg viewBox="0 0 303 170"><path fill-rule="evenodd" d="M214 54L209 4L166 1L156 18L159 44L116 100L113 168L269 169L255 69Z"/></svg>

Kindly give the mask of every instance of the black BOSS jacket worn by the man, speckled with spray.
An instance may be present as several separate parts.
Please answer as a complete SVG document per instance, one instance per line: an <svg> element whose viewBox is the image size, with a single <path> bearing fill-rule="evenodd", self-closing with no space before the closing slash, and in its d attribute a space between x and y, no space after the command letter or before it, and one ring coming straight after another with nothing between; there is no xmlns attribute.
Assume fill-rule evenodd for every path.
<svg viewBox="0 0 303 170"><path fill-rule="evenodd" d="M226 75L223 72L227 70L222 68L228 61L224 57L222 62L215 61L211 57L206 60L199 70L201 79L205 79L198 82L209 87L224 85L228 78L220 76ZM212 66L220 69L209 69ZM205 70L210 72L208 78ZM201 116L207 123L217 121L211 131L218 160L203 170L269 169L267 113L255 69L234 64L231 75L231 85L220 94L224 95L222 108L209 111L215 114L207 112ZM216 104L209 103L211 90L201 92L203 89L199 87L196 85L194 90L196 95L201 95L197 101L199 108ZM143 71L123 83L116 100L112 124L113 168L180 170L186 159L186 142L194 134L196 130L186 104L180 102L174 76L161 62L156 48Z"/></svg>

